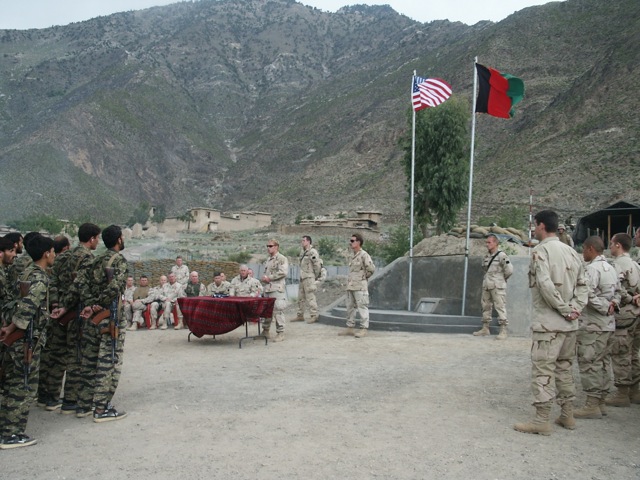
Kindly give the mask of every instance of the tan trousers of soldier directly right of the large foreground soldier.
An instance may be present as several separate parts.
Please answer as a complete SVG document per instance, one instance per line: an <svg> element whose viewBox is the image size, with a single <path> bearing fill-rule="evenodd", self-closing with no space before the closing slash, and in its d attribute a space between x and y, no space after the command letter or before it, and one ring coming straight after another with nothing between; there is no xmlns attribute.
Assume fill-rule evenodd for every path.
<svg viewBox="0 0 640 480"><path fill-rule="evenodd" d="M613 332L578 331L578 367L582 390L592 397L602 397L609 391L610 375L606 357Z"/></svg>

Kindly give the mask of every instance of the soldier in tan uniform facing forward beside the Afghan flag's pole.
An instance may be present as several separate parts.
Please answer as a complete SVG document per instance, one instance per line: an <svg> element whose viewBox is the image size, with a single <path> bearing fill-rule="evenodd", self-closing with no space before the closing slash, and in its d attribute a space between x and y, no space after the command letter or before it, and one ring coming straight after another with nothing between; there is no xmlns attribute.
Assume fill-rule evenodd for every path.
<svg viewBox="0 0 640 480"><path fill-rule="evenodd" d="M498 237L487 236L487 250L489 251L482 260L482 268L485 271L482 280L482 328L473 332L475 336L490 335L491 311L495 307L498 313L498 325L500 332L496 340L507 338L507 280L513 273L513 264L509 256L502 250L498 250Z"/></svg>

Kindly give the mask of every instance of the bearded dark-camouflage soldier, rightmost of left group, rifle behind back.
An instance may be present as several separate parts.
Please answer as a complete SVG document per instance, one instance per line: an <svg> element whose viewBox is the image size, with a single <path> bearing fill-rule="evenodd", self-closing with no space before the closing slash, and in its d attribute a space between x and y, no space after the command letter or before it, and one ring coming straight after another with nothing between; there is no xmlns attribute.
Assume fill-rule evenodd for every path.
<svg viewBox="0 0 640 480"><path fill-rule="evenodd" d="M115 358L112 358L109 317L98 325L85 322L82 348L83 388L78 396L77 417L86 417L94 408L93 421L107 422L126 416L118 412L111 399L115 394L122 369L123 347L127 323L122 314L121 296L127 281L127 260L120 254L124 249L122 230L111 225L102 232L106 250L98 255L89 269L83 270L74 282L72 291L85 305L82 315L90 318L98 312L109 310L117 302L118 338ZM108 280L105 268L113 268L114 275Z"/></svg>

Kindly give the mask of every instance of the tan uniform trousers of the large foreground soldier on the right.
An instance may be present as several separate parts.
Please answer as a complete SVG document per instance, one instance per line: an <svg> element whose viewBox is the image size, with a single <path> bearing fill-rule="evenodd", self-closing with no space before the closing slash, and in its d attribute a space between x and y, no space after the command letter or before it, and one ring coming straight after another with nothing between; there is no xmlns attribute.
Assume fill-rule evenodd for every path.
<svg viewBox="0 0 640 480"><path fill-rule="evenodd" d="M575 399L572 365L576 356L576 332L531 334L531 390L533 404L554 398L562 405Z"/></svg>

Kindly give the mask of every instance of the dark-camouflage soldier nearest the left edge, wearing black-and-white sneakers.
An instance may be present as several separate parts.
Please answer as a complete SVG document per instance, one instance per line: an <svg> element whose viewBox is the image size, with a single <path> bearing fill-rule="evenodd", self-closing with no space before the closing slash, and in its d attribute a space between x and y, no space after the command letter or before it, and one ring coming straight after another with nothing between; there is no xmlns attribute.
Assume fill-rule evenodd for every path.
<svg viewBox="0 0 640 480"><path fill-rule="evenodd" d="M26 447L36 443L25 435L29 408L38 391L40 352L46 343L49 322L49 279L45 270L53 265L53 240L39 235L26 246L34 263L19 278L29 282L29 291L20 298L16 313L6 327L0 329L0 340L17 329L24 336L6 347L3 354L5 368L0 404L0 449ZM25 368L25 344L28 344L29 326L32 328L32 357Z"/></svg>

